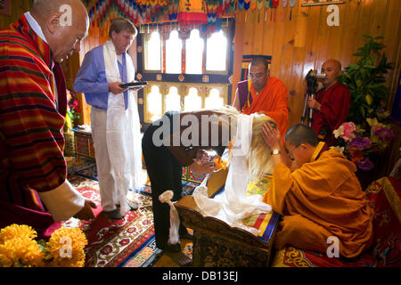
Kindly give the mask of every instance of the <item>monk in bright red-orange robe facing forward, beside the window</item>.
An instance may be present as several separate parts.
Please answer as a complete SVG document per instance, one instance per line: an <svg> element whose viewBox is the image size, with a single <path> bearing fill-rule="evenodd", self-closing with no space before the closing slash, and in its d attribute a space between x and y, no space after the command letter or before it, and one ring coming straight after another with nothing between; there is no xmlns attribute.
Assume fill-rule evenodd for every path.
<svg viewBox="0 0 401 285"><path fill-rule="evenodd" d="M282 134L287 131L288 90L282 81L270 77L266 59L255 57L250 62L250 80L238 83L233 107L243 114L262 112L274 118Z"/></svg>

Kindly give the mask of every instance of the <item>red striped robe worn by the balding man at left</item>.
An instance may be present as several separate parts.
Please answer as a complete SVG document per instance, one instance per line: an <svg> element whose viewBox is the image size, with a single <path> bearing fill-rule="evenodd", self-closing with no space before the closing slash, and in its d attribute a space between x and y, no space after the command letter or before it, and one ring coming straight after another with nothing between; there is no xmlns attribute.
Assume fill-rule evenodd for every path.
<svg viewBox="0 0 401 285"><path fill-rule="evenodd" d="M46 211L37 192L58 187L67 175L62 154L66 108L61 67L25 16L0 29L1 203Z"/></svg>

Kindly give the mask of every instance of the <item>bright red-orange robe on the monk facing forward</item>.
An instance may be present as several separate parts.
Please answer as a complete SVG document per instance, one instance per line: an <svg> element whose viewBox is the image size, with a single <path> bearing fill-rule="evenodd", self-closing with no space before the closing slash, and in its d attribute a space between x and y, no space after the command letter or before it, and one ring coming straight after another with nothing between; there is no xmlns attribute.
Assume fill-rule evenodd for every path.
<svg viewBox="0 0 401 285"><path fill-rule="evenodd" d="M282 140L287 132L288 121L288 90L280 79L269 77L265 87L256 93L255 87L248 80L249 92L252 102L242 108L242 113L250 115L252 113L265 111L266 115L273 118L282 134Z"/></svg>

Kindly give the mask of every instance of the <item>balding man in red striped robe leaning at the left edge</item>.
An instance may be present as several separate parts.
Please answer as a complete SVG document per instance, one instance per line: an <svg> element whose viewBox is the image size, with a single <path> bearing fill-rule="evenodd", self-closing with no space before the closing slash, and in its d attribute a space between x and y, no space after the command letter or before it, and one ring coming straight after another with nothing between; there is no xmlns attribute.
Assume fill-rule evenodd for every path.
<svg viewBox="0 0 401 285"><path fill-rule="evenodd" d="M29 224L45 238L60 226L54 222L94 217L94 203L66 179L59 64L79 52L88 26L79 0L35 0L0 30L0 228Z"/></svg>

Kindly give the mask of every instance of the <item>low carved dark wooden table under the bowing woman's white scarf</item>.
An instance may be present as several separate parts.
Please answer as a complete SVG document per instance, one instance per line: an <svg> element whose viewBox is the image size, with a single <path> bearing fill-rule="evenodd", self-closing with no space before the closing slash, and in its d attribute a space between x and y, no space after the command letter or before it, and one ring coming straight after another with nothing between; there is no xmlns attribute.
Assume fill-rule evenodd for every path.
<svg viewBox="0 0 401 285"><path fill-rule="evenodd" d="M209 177L209 197L224 187L225 170ZM212 217L202 216L192 196L176 202L184 226L193 230L192 265L197 267L261 267L269 266L279 215L264 214L268 221L262 236L231 227Z"/></svg>

